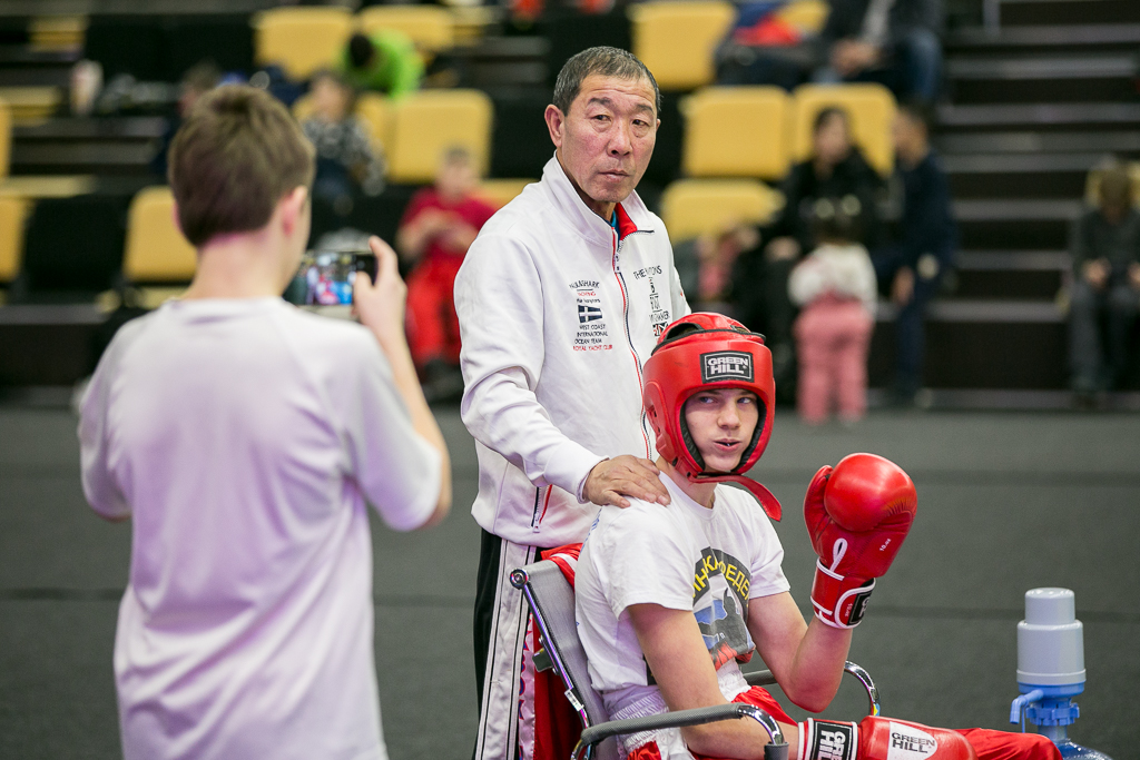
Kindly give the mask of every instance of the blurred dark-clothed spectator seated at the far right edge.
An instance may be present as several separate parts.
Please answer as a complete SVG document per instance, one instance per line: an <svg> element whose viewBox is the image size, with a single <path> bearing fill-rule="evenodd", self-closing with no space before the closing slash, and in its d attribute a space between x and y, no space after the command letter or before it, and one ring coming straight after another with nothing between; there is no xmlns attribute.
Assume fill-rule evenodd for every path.
<svg viewBox="0 0 1140 760"><path fill-rule="evenodd" d="M1070 243L1069 362L1073 390L1082 394L1123 382L1140 302L1140 214L1123 169L1101 174L1098 201L1077 220Z"/></svg>

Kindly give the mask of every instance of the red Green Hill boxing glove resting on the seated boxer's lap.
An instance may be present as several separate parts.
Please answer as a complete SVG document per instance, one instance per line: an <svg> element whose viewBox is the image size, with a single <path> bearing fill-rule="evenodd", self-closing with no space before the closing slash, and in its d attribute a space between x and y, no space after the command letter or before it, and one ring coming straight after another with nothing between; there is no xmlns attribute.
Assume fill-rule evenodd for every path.
<svg viewBox="0 0 1140 760"><path fill-rule="evenodd" d="M958 732L909 720L866 717L861 722L799 724L798 760L978 760Z"/></svg>

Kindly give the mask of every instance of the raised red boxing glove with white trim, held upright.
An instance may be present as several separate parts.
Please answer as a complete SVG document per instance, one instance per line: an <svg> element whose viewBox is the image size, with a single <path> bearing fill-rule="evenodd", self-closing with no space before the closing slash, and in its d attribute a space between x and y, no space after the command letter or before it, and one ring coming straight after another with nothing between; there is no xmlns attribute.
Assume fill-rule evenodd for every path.
<svg viewBox="0 0 1140 760"><path fill-rule="evenodd" d="M820 620L834 628L858 624L874 579L890 567L917 508L911 479L873 453L853 453L815 473L804 497L804 517L820 555L812 583Z"/></svg>

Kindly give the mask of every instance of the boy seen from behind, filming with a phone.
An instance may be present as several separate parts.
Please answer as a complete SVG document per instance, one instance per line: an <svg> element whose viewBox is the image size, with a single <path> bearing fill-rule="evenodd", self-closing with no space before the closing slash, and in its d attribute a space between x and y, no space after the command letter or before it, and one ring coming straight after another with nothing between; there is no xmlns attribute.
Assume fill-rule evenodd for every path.
<svg viewBox="0 0 1140 760"><path fill-rule="evenodd" d="M194 281L119 332L83 403L83 491L133 518L114 657L128 760L386 758L366 500L396 530L438 523L450 467L396 253L372 238L361 325L280 297L312 175L278 100L203 96L170 149Z"/></svg>

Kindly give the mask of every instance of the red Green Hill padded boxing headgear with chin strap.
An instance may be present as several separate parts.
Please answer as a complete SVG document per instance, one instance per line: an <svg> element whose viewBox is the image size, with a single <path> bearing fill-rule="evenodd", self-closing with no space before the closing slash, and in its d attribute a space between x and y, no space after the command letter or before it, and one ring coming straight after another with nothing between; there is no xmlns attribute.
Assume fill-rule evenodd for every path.
<svg viewBox="0 0 1140 760"><path fill-rule="evenodd" d="M701 389L740 387L759 400L752 440L730 473L705 472L705 459L685 424L685 401ZM746 477L772 435L775 383L772 353L764 336L723 314L694 313L669 325L645 362L645 414L657 434L657 451L690 482L733 481L759 500L772 520L780 502L768 489Z"/></svg>

